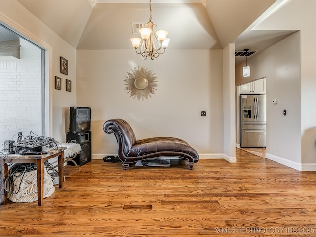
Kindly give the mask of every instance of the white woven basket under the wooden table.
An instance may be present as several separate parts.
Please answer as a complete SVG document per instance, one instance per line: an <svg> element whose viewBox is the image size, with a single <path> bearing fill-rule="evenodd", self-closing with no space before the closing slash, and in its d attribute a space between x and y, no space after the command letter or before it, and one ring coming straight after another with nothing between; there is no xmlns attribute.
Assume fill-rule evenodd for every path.
<svg viewBox="0 0 316 237"><path fill-rule="evenodd" d="M15 174L15 176L18 175L19 173ZM44 169L44 198L52 195L54 191L54 181L47 172L47 169ZM13 202L33 202L38 200L36 170L27 172L24 176L20 175L14 180L13 192L9 194L9 198Z"/></svg>

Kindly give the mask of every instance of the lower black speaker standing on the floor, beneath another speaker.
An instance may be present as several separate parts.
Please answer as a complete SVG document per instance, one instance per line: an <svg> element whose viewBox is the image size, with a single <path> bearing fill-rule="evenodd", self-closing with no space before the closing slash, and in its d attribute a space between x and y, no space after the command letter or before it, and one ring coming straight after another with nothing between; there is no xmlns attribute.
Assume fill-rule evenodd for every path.
<svg viewBox="0 0 316 237"><path fill-rule="evenodd" d="M73 160L77 165L82 166L91 161L91 132L68 132L66 135L67 142L79 143L81 152ZM68 161L67 164L74 165L73 162Z"/></svg>

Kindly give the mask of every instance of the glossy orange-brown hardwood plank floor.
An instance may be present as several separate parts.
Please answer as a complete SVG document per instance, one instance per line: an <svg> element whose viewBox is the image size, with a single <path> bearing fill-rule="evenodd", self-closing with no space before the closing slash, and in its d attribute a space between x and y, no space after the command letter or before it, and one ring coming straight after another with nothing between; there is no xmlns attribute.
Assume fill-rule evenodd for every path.
<svg viewBox="0 0 316 237"><path fill-rule="evenodd" d="M237 163L193 170L92 160L65 167L64 188L0 206L0 237L316 236L316 172L237 149Z"/></svg>

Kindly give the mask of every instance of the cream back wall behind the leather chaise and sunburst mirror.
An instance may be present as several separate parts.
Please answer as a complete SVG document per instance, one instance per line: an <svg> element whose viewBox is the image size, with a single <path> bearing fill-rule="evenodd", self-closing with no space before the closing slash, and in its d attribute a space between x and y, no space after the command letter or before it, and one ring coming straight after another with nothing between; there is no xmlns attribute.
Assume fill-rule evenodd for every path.
<svg viewBox="0 0 316 237"><path fill-rule="evenodd" d="M157 76L157 91L148 100L133 99L125 90L127 72L135 66ZM117 152L114 135L102 129L111 118L129 122L137 139L179 137L201 157L222 154L222 68L222 50L167 50L155 60L143 60L134 50L78 50L77 105L91 107L94 158Z"/></svg>

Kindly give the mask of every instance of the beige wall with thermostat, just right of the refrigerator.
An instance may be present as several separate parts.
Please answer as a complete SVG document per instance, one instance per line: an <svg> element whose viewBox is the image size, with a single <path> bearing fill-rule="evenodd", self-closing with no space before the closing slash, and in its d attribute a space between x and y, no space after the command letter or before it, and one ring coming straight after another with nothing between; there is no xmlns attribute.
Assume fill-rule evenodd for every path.
<svg viewBox="0 0 316 237"><path fill-rule="evenodd" d="M299 44L297 32L248 60L251 79L267 77L266 153L297 163L301 162ZM244 80L242 67L236 69L237 85ZM278 103L272 104L273 99Z"/></svg>

